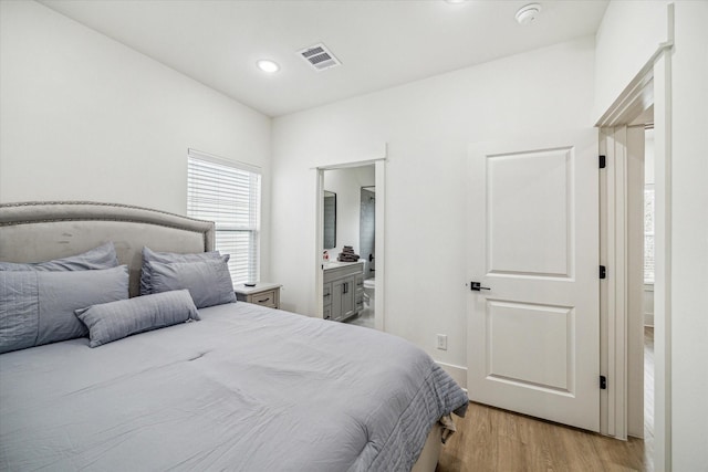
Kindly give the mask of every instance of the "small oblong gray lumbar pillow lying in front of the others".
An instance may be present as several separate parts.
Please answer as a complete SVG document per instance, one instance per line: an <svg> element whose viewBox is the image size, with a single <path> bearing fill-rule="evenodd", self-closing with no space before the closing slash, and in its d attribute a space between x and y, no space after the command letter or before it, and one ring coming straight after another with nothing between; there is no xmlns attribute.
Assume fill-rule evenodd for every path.
<svg viewBox="0 0 708 472"><path fill-rule="evenodd" d="M103 303L74 313L88 328L91 347L190 319L199 321L197 307L186 290Z"/></svg>

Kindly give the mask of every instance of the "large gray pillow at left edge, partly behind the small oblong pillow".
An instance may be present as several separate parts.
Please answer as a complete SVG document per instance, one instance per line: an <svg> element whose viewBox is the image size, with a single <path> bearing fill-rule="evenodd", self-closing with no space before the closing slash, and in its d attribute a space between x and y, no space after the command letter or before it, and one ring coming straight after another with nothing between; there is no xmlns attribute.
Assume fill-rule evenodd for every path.
<svg viewBox="0 0 708 472"><path fill-rule="evenodd" d="M128 297L128 269L0 271L0 353L85 336L74 310Z"/></svg>

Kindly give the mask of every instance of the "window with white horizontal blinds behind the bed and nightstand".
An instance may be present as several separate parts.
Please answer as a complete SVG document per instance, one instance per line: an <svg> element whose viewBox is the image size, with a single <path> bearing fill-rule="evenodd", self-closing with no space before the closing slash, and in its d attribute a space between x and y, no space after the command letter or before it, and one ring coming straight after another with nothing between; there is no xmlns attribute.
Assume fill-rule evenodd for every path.
<svg viewBox="0 0 708 472"><path fill-rule="evenodd" d="M216 249L231 254L233 284L260 279L260 169L189 149L187 214L216 223Z"/></svg>

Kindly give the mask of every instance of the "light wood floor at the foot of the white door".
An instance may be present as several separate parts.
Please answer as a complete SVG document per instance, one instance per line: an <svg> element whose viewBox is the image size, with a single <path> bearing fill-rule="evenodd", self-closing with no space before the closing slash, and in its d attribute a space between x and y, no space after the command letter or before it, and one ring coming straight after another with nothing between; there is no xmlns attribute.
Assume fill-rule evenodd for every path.
<svg viewBox="0 0 708 472"><path fill-rule="evenodd" d="M650 363L650 364L649 364ZM647 364L649 364L647 366ZM648 369L648 371L647 371ZM455 418L457 432L442 447L436 472L652 472L654 331L645 329L645 440L585 432L483 405ZM645 378L646 378L645 377ZM647 380L645 379L645 382Z"/></svg>

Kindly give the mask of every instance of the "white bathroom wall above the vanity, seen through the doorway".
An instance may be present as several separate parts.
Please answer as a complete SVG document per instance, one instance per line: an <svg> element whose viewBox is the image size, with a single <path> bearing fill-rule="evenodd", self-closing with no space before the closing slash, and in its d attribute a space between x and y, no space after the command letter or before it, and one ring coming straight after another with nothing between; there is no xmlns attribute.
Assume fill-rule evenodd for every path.
<svg viewBox="0 0 708 472"><path fill-rule="evenodd" d="M361 190L375 185L375 177L373 165L325 170L324 189L336 193L336 248L329 251L331 261L344 245L360 254Z"/></svg>

